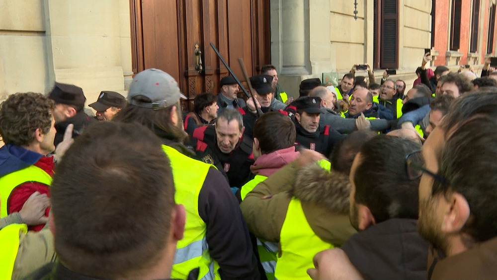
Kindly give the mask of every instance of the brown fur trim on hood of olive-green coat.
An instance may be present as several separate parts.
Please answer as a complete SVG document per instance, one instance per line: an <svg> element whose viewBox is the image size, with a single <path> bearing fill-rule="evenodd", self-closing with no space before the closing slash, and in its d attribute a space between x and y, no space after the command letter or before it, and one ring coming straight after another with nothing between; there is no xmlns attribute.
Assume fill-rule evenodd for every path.
<svg viewBox="0 0 497 280"><path fill-rule="evenodd" d="M338 172L328 172L317 164L308 165L297 172L290 193L303 202L327 207L336 214L349 212L348 177Z"/></svg>

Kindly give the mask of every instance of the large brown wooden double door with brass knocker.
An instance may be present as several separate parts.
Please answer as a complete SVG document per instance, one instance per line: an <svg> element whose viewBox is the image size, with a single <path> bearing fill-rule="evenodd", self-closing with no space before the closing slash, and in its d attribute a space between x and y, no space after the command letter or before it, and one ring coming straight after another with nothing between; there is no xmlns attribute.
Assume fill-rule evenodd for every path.
<svg viewBox="0 0 497 280"><path fill-rule="evenodd" d="M157 68L179 84L193 109L198 93L219 93L228 70L211 48L212 42L235 75L248 75L270 63L269 0L130 0L133 72Z"/></svg>

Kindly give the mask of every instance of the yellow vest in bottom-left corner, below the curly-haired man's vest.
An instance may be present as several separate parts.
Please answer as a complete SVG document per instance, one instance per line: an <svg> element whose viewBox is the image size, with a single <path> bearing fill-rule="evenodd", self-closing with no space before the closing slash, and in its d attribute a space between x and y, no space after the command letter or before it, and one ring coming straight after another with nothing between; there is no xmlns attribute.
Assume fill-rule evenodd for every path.
<svg viewBox="0 0 497 280"><path fill-rule="evenodd" d="M11 224L0 230L0 279L12 279L19 250L19 233L27 231L25 224Z"/></svg>

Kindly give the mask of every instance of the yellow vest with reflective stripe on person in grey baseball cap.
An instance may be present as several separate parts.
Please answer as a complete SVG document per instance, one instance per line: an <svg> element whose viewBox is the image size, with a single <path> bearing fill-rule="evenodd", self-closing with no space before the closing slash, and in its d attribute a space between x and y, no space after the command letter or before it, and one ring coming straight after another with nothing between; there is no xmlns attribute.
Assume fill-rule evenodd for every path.
<svg viewBox="0 0 497 280"><path fill-rule="evenodd" d="M209 168L214 166L191 159L169 146L162 148L172 169L176 189L174 200L183 204L186 210L185 230L183 239L176 245L171 278L186 279L188 273L198 267L198 279L221 279L219 265L209 255L205 237L207 226L198 214L198 195Z"/></svg>

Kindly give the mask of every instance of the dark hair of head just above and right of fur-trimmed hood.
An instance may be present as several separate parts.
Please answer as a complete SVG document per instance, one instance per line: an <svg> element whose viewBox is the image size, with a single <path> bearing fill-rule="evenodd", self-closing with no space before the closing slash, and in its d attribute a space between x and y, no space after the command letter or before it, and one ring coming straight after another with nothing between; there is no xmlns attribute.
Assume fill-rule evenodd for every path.
<svg viewBox="0 0 497 280"><path fill-rule="evenodd" d="M359 153L362 145L377 134L371 130L354 131L347 137L340 139L333 148L330 161L333 171L349 175L355 155Z"/></svg>

